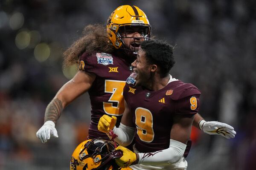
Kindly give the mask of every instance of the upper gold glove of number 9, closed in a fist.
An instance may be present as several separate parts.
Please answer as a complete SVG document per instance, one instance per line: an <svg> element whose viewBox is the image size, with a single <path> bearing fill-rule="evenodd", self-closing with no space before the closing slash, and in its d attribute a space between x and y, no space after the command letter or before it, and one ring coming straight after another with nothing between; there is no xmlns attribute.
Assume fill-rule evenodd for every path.
<svg viewBox="0 0 256 170"><path fill-rule="evenodd" d="M98 130L104 133L109 133L110 130L113 130L115 125L116 116L110 117L105 114L99 119Z"/></svg>

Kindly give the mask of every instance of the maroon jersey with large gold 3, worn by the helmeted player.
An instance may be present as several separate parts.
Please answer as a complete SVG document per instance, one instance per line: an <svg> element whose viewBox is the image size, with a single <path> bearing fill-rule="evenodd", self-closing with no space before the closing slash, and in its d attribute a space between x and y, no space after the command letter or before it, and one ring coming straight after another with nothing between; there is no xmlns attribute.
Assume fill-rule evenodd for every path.
<svg viewBox="0 0 256 170"><path fill-rule="evenodd" d="M116 116L116 127L119 126L124 112L123 88L130 75L129 64L122 58L106 53L83 53L79 59L79 70L96 74L96 79L88 91L91 104L91 122L89 139L101 136L108 139L105 133L98 130L99 118L108 114Z"/></svg>

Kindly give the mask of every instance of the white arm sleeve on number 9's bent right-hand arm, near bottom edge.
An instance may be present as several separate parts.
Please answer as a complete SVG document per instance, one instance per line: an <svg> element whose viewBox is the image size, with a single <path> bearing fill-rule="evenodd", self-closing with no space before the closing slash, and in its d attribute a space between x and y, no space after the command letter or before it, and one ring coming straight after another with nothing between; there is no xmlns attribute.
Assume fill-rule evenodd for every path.
<svg viewBox="0 0 256 170"><path fill-rule="evenodd" d="M186 144L170 139L170 146L168 149L159 150L152 153L138 153L138 164L163 166L173 164L179 161L186 149Z"/></svg>

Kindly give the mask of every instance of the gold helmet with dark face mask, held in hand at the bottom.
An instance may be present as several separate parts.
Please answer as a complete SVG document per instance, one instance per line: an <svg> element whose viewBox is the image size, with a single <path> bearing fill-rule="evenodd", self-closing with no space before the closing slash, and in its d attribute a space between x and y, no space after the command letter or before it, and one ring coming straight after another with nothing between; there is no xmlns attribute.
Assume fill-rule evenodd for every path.
<svg viewBox="0 0 256 170"><path fill-rule="evenodd" d="M72 154L70 170L120 170L114 159L122 157L122 151L111 142L100 137L81 142Z"/></svg>

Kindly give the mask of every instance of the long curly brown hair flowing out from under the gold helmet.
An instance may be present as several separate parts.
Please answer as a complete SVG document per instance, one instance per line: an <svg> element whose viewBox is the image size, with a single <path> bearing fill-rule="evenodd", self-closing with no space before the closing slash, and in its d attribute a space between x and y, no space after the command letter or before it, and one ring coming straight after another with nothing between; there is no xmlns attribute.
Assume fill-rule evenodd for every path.
<svg viewBox="0 0 256 170"><path fill-rule="evenodd" d="M64 68L79 63L79 56L85 51L112 53L113 45L108 42L106 27L102 24L90 24L82 32L83 36L76 40L64 53Z"/></svg>

